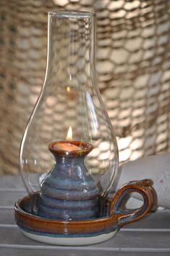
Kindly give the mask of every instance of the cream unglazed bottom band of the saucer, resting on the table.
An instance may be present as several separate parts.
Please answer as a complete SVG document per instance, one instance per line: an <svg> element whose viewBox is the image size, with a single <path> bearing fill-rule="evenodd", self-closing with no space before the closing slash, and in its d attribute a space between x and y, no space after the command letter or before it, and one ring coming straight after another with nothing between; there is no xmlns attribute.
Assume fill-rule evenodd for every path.
<svg viewBox="0 0 170 256"><path fill-rule="evenodd" d="M30 233L27 231L22 232L25 236L33 239L35 241L41 241L43 243L48 244L57 244L57 245L65 245L65 246L81 246L81 245L90 245L90 244L97 244L102 241L106 241L111 239L116 234L116 231L112 231L111 233L104 233L99 236L88 236L88 237L53 237L53 236L46 236L46 235L37 235L35 233Z"/></svg>

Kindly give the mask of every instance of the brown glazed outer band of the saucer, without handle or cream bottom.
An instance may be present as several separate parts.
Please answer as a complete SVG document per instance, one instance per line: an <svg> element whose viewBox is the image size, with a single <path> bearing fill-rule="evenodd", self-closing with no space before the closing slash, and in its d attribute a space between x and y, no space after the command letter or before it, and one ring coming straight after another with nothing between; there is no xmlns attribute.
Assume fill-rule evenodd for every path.
<svg viewBox="0 0 170 256"><path fill-rule="evenodd" d="M116 215L92 220L52 220L26 212L22 204L28 204L30 196L20 199L14 205L17 225L45 233L95 233L116 228Z"/></svg>

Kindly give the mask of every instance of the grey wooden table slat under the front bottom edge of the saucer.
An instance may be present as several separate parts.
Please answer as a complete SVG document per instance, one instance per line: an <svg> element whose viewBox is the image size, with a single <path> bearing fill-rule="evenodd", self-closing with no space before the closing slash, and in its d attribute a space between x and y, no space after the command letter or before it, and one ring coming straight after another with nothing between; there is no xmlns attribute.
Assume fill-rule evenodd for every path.
<svg viewBox="0 0 170 256"><path fill-rule="evenodd" d="M22 234L18 228L1 228L1 233L3 236L0 237L0 247L2 244L7 244L12 247L38 247L43 249L47 248L56 248L54 245L43 244L32 239L28 239ZM10 236L9 236L10 234ZM129 240L130 239L130 240ZM90 246L81 247L82 250L90 251L109 251L115 252L120 248L127 252L130 251L151 251L156 252L168 251L170 252L170 233L169 232L139 232L138 231L121 231L116 233L114 238L109 239L100 244L94 244ZM72 249L72 247L57 247L62 249ZM78 247L77 247L78 248Z"/></svg>

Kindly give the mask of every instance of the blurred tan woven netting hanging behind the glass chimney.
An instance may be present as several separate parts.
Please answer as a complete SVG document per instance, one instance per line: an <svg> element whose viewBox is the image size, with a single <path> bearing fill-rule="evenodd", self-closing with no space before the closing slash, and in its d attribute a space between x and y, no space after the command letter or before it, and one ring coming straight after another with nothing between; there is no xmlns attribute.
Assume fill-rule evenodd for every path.
<svg viewBox="0 0 170 256"><path fill-rule="evenodd" d="M18 174L20 142L46 71L47 12L94 11L98 87L119 161L170 148L170 1L0 1L0 173Z"/></svg>

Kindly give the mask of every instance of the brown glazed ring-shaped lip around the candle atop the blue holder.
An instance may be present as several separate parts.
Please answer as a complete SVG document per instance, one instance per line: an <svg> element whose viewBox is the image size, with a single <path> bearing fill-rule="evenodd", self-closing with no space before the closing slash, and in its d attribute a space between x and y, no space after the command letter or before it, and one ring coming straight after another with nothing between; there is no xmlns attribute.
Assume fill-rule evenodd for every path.
<svg viewBox="0 0 170 256"><path fill-rule="evenodd" d="M72 145L77 145L80 147L77 151L64 151L61 149L54 148L57 144L64 144L69 143ZM56 156L73 156L73 157L79 157L79 156L87 156L90 151L93 150L93 145L90 143L85 143L79 140L61 140L61 141L54 141L48 145L48 150L51 151Z"/></svg>

